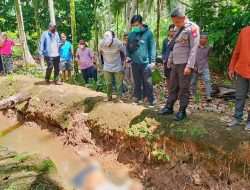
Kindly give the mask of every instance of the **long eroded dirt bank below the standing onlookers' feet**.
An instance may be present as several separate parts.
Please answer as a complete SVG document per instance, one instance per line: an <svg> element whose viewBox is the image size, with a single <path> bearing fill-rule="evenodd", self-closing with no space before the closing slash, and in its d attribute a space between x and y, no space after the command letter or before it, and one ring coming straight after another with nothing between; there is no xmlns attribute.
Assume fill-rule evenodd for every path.
<svg viewBox="0 0 250 190"><path fill-rule="evenodd" d="M39 79L0 78L0 98L31 93L17 106L28 118L61 127L65 144L116 151L131 175L156 189L249 189L250 134L227 130L220 116L196 112L183 122L131 104L104 103L104 94L79 86L46 86ZM56 128L55 128L56 129Z"/></svg>

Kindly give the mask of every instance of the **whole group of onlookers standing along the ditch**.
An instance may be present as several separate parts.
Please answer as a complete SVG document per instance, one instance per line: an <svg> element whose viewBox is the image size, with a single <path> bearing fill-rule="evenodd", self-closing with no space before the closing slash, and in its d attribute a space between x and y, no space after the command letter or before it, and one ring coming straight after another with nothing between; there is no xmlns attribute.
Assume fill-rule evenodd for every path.
<svg viewBox="0 0 250 190"><path fill-rule="evenodd" d="M178 8L171 13L173 24L169 26L169 35L163 41L162 59L166 78L167 101L159 115L173 114L174 105L180 102L179 110L173 119L181 121L186 118L186 108L192 95L197 95L198 78L202 76L206 86L206 100L211 101L211 77L208 68L208 59L211 47L207 45L208 33L200 32L199 26L190 21L185 12ZM132 31L124 34L123 42L115 37L114 32L107 31L98 44L98 52L103 63L104 79L107 86L107 98L112 100L113 90L116 90L116 100L122 103L124 82L134 87L135 101L141 104L147 98L148 107L154 108L155 97L152 84L152 71L156 66L156 46L152 31L142 22L140 15L131 19ZM236 104L235 115L230 127L235 127L243 121L243 111L246 97L250 90L250 27L244 28L238 38L235 51L229 65L229 77L236 77ZM12 46L15 43L1 34L0 72L11 73ZM47 62L45 82L50 84L50 75L54 68L54 83L58 81L59 72L65 81L70 79L73 68L73 53L67 36L57 33L55 23L50 23L47 31L41 37L39 54ZM97 68L94 65L95 56L84 40L79 41L75 59L82 72L84 83L88 86L89 79L97 81ZM250 112L245 126L250 130Z"/></svg>

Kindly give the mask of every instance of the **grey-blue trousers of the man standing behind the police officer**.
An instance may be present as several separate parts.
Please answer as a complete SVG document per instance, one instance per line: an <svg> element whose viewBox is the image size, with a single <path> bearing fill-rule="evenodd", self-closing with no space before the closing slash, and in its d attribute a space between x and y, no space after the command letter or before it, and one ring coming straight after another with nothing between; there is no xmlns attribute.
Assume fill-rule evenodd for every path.
<svg viewBox="0 0 250 190"><path fill-rule="evenodd" d="M211 78L210 78L210 72L209 69L205 69L202 73L193 72L193 78L192 78L192 94L193 96L197 95L197 83L199 76L202 76L203 81L205 82L206 86L206 98L211 98Z"/></svg>

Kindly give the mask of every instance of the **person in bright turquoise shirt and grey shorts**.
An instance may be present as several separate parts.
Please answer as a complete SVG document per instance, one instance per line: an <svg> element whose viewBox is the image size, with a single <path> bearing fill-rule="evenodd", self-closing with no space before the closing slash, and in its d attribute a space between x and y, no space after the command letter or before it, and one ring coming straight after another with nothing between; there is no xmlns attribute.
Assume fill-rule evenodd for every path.
<svg viewBox="0 0 250 190"><path fill-rule="evenodd" d="M66 81L66 71L68 74L68 79L71 78L72 66L72 49L71 43L67 40L67 35L61 34L61 44L60 44L60 71L62 71L63 81Z"/></svg>

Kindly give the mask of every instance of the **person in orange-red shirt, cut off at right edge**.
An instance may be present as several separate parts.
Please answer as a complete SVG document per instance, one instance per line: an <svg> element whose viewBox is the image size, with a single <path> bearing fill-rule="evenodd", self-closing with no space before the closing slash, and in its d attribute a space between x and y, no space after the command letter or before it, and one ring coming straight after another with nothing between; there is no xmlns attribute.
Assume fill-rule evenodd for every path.
<svg viewBox="0 0 250 190"><path fill-rule="evenodd" d="M229 78L236 79L235 89L235 111L234 118L228 124L229 127L236 127L242 124L243 111L247 100L247 94L250 92L250 26L243 28L239 34L230 64ZM248 102L249 105L249 102ZM250 111L245 130L250 130Z"/></svg>

